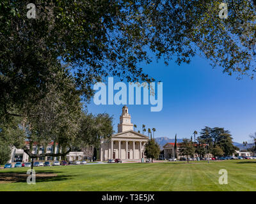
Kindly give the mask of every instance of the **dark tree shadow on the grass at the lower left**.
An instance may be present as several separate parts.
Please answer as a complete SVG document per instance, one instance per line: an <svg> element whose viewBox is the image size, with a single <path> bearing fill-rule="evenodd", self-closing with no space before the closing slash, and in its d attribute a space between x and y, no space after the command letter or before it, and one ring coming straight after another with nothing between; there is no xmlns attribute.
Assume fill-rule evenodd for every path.
<svg viewBox="0 0 256 204"><path fill-rule="evenodd" d="M57 174L61 172L62 171L38 170L36 171L36 183L37 182L54 182L54 181L72 179L70 175ZM8 183L14 183L14 182L26 183L28 177L29 177L29 174L27 174L26 171L1 172L0 184L8 184Z"/></svg>

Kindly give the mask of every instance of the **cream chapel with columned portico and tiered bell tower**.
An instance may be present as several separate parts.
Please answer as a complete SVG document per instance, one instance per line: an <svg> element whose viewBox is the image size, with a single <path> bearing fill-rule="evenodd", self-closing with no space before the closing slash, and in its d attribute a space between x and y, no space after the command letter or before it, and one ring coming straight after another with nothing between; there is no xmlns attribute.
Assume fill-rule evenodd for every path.
<svg viewBox="0 0 256 204"><path fill-rule="evenodd" d="M131 115L127 106L122 108L118 133L111 136L110 140L102 140L100 147L100 161L108 159L122 159L124 161L139 161L145 158L145 144L148 136L133 131Z"/></svg>

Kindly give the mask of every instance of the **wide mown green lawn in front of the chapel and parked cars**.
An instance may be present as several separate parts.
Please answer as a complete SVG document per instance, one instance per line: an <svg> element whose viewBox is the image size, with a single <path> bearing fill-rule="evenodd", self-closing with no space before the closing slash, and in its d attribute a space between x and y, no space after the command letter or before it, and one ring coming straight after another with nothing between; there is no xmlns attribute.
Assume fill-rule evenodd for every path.
<svg viewBox="0 0 256 204"><path fill-rule="evenodd" d="M227 185L218 183L220 169ZM0 170L0 191L256 191L256 161L36 167L35 185L26 183L26 170Z"/></svg>

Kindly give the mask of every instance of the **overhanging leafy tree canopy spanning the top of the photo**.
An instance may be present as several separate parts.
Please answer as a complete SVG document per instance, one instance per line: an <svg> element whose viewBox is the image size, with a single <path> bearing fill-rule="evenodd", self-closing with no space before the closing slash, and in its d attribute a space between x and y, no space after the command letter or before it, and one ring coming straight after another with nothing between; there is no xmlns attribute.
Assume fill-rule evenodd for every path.
<svg viewBox="0 0 256 204"><path fill-rule="evenodd" d="M255 1L0 1L0 115L49 90L60 64L68 67L83 99L108 75L152 81L141 62L152 54L189 63L201 54L229 73L255 71ZM54 69L53 69L54 68ZM41 94L33 97L33 94Z"/></svg>

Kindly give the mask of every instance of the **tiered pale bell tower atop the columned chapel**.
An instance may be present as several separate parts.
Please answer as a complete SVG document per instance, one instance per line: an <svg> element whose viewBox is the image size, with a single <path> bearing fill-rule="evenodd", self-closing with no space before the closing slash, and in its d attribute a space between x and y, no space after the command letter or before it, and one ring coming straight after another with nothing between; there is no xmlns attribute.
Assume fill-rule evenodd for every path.
<svg viewBox="0 0 256 204"><path fill-rule="evenodd" d="M131 123L131 115L128 113L128 107L122 108L122 115L120 115L120 124L118 124L118 133L124 131L133 130L133 124Z"/></svg>

